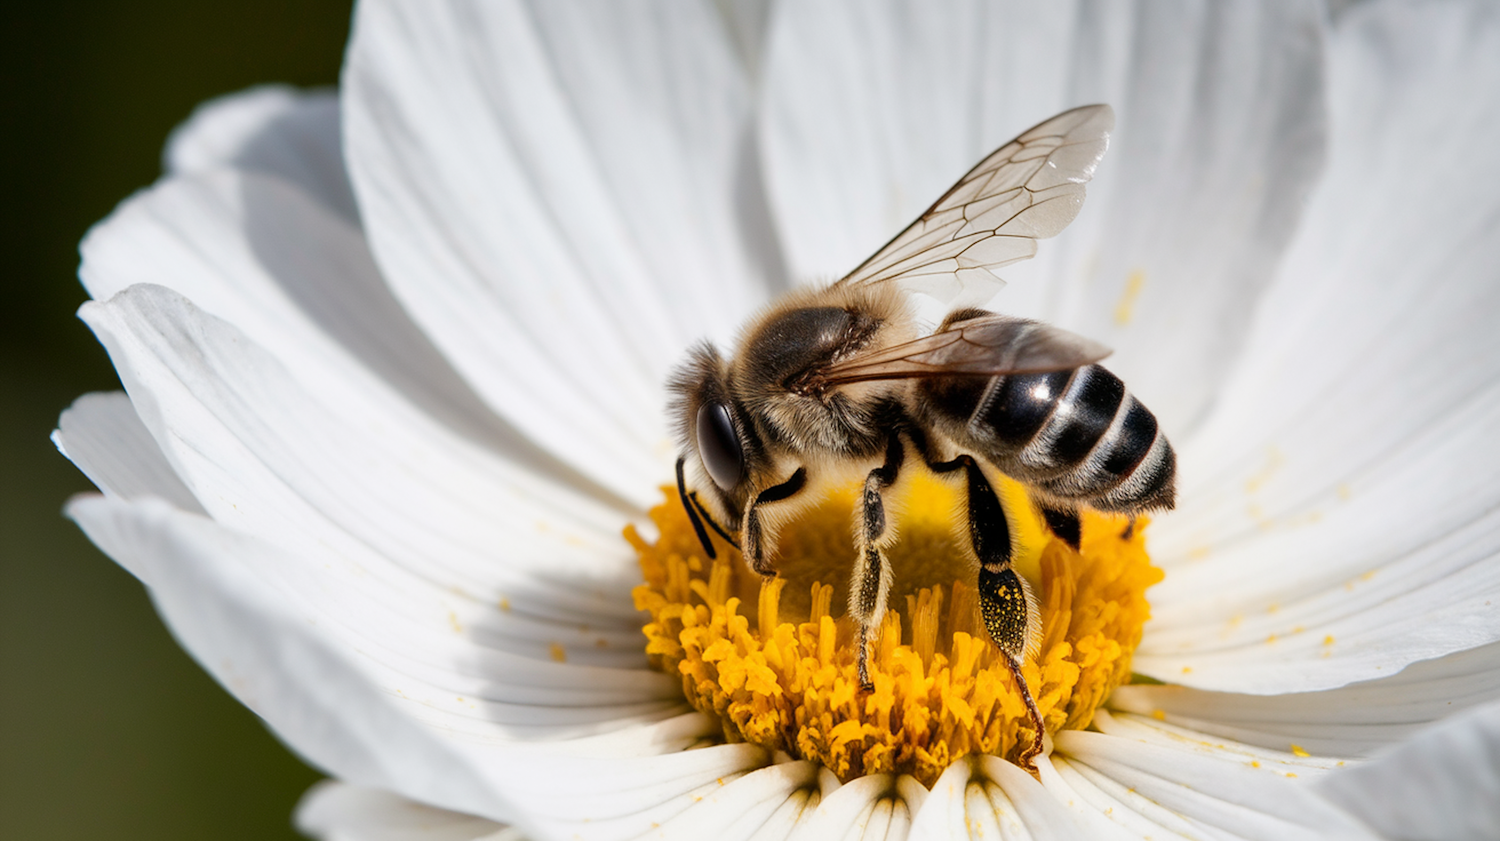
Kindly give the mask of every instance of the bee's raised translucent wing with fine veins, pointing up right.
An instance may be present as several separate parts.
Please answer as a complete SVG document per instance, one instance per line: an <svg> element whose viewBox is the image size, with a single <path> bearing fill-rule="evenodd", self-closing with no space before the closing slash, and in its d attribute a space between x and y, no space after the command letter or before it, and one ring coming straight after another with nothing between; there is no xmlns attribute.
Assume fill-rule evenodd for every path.
<svg viewBox="0 0 1500 841"><path fill-rule="evenodd" d="M1110 145L1114 111L1064 111L994 150L838 283L900 282L939 300L999 289L994 268L1036 253L1083 207L1083 184Z"/></svg>

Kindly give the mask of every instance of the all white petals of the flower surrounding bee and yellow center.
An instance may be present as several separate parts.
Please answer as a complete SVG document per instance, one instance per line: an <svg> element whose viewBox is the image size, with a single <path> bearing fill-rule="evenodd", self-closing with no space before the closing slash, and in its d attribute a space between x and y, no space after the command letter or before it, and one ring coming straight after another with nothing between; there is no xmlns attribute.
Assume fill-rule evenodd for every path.
<svg viewBox="0 0 1500 841"><path fill-rule="evenodd" d="M339 99L204 106L86 240L129 396L64 412L104 490L69 513L342 781L303 826L1500 831L1496 9L730 18L366 3ZM1114 145L996 306L1114 346L1173 430L1136 669L1178 685L1119 690L1040 784L984 757L838 787L700 747L620 538L670 477L664 372L1084 102Z"/></svg>

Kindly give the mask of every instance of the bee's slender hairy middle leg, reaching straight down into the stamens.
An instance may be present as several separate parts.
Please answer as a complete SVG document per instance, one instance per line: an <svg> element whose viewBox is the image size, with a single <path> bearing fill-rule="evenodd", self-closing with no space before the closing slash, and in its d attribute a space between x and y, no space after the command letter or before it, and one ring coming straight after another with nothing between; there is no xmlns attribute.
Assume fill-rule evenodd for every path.
<svg viewBox="0 0 1500 841"><path fill-rule="evenodd" d="M894 537L894 529L885 517L885 492L896 484L902 472L906 448L892 435L885 445L885 463L870 471L860 493L860 523L855 529L856 567L849 582L849 616L858 625L855 636L855 658L860 666L860 688L870 691L870 642L874 630L885 618L885 601L891 592L891 562L885 558L885 546Z"/></svg>

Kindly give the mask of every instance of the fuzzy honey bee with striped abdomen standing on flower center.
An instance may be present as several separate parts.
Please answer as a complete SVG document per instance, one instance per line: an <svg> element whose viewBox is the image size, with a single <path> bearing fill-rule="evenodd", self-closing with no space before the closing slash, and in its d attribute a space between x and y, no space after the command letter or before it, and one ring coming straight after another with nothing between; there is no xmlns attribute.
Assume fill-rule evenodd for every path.
<svg viewBox="0 0 1500 841"><path fill-rule="evenodd" d="M1041 622L1011 564L992 472L1024 483L1048 528L1077 549L1080 508L1132 517L1172 508L1176 459L1155 415L1095 364L1108 355L1102 345L974 307L921 334L909 295L993 283L994 268L1062 232L1113 124L1108 105L1089 105L1022 133L848 276L772 303L732 357L694 346L669 384L678 492L710 558L712 528L756 573L774 576L777 526L813 501L813 481L862 481L849 616L866 691L892 579L886 495L915 459L962 475L962 543L974 553L986 630L1030 715L1020 757L1030 771L1044 730L1020 667L1036 654Z"/></svg>

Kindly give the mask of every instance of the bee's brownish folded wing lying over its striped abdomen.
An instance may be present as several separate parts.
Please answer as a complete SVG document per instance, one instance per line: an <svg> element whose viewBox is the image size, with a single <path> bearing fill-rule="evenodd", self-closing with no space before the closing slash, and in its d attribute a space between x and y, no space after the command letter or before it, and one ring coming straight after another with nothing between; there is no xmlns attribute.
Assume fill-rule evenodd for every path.
<svg viewBox="0 0 1500 841"><path fill-rule="evenodd" d="M1068 370L1096 363L1108 348L1060 327L987 315L960 321L942 333L858 355L810 376L814 388L867 379L951 375L1006 375Z"/></svg>

